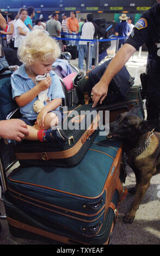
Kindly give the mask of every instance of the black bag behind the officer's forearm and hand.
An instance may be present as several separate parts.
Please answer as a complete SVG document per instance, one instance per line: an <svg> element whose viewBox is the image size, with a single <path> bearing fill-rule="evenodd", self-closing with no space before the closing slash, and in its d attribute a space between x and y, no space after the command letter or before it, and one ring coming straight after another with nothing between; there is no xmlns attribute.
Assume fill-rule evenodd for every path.
<svg viewBox="0 0 160 256"><path fill-rule="evenodd" d="M81 81L78 82L77 86L77 96L79 103L93 103L90 94L92 88L98 83L106 70L107 66L112 59L107 60L100 66L91 70L87 76L85 76ZM134 84L134 77L131 77L128 70L124 66L118 74L116 74L112 81L109 83L108 93L106 98L103 100L102 104L110 104L119 100L124 99L124 97L129 92L130 88Z"/></svg>

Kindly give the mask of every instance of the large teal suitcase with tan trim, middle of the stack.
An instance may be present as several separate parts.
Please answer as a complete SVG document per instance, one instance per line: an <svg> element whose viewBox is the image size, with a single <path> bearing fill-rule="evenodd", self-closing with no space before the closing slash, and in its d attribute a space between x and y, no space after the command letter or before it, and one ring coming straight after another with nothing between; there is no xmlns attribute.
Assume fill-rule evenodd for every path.
<svg viewBox="0 0 160 256"><path fill-rule="evenodd" d="M15 169L7 180L8 200L20 209L20 214L9 214L7 207L9 224L39 235L45 236L45 231L50 230L75 241L95 242L95 237L103 233L109 209L115 211L123 193L121 152L121 142L97 135L77 166ZM118 195L114 204L115 191ZM27 217L23 219L23 212L34 227L26 222Z"/></svg>

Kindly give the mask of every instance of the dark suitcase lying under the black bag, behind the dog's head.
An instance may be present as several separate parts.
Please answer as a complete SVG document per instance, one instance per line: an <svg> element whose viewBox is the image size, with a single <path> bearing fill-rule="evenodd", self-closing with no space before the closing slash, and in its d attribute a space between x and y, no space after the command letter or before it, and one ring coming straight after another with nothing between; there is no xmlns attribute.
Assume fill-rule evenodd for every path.
<svg viewBox="0 0 160 256"><path fill-rule="evenodd" d="M100 105L97 107L99 111L103 111L103 124L105 118L105 111L109 111L109 123L115 121L118 114L129 111L135 105L139 105L139 117L143 118L144 108L143 108L143 100L141 99L140 87L132 86L126 97L123 100L117 101L110 105Z"/></svg>

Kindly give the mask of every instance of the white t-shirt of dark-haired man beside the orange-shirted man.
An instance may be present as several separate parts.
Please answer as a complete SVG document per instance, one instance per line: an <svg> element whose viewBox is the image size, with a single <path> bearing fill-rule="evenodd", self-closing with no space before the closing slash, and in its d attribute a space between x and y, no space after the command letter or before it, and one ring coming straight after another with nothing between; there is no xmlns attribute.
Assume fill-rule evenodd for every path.
<svg viewBox="0 0 160 256"><path fill-rule="evenodd" d="M82 26L81 39L93 40L95 33L95 27L92 22L87 21ZM79 41L79 45L87 45L87 41Z"/></svg>

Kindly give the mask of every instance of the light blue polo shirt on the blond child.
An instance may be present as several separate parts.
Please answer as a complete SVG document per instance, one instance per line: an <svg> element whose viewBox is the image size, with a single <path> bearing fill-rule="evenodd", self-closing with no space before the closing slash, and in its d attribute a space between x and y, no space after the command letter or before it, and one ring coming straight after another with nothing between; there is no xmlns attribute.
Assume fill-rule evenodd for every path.
<svg viewBox="0 0 160 256"><path fill-rule="evenodd" d="M65 97L63 88L61 86L59 77L53 72L50 71L50 76L52 78L52 84L48 89L48 100L51 101L53 99L61 98L63 99ZM26 66L21 65L19 69L17 69L13 75L11 75L11 87L12 87L12 94L13 99L16 96L20 96L24 93L27 93L30 89L32 89L35 86L33 80L29 78L29 76L26 73ZM20 107L20 112L22 113L22 117L25 117L30 120L34 120L37 117L37 113L33 110L33 104L34 102L38 100L38 96L36 96L32 101L30 101L26 106ZM46 105L47 102L44 102L44 105ZM57 110L59 107L57 108Z"/></svg>

